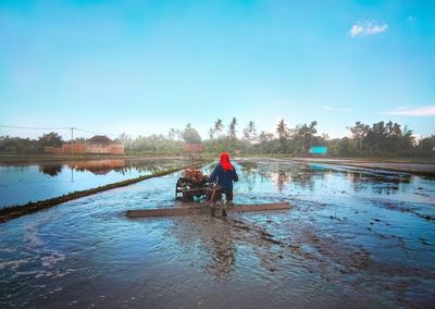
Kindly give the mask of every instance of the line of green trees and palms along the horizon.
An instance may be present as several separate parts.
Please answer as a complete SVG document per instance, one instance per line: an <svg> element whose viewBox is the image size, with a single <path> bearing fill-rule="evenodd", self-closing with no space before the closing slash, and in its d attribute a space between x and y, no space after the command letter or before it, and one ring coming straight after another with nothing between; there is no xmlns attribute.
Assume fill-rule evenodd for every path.
<svg viewBox="0 0 435 309"><path fill-rule="evenodd" d="M182 154L184 145L202 143L204 152L229 151L236 154L285 154L307 156L313 146L325 146L328 156L339 157L434 157L435 135L415 138L412 131L391 121L380 121L372 125L357 122L349 129L349 137L331 139L327 134L318 134L318 122L289 127L279 120L274 132L258 132L256 123L249 121L239 129L233 118L228 124L221 119L214 121L202 140L191 123L183 129L171 128L167 134L139 135L136 138L125 133L114 140L125 146L129 154ZM76 138L75 143L86 139ZM38 139L0 136L0 152L33 154L42 153L45 146L61 146L65 143L54 132Z"/></svg>

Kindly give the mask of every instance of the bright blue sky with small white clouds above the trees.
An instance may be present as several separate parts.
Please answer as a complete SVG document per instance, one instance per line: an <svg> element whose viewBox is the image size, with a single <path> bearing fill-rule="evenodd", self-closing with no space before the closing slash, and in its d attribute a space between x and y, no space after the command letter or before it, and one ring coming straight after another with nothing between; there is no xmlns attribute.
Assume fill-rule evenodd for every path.
<svg viewBox="0 0 435 309"><path fill-rule="evenodd" d="M206 137L217 118L284 118L341 137L391 120L427 136L434 21L434 1L0 0L0 124Z"/></svg>

